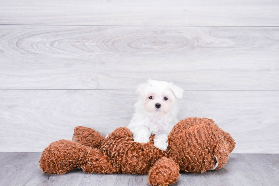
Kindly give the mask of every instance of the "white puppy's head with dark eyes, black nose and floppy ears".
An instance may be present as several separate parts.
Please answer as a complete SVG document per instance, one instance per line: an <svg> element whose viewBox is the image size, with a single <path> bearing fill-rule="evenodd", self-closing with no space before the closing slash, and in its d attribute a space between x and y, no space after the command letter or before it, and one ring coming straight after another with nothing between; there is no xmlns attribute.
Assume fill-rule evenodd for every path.
<svg viewBox="0 0 279 186"><path fill-rule="evenodd" d="M138 85L139 102L152 116L163 116L177 106L176 99L181 99L183 89L172 82L149 79L147 83Z"/></svg>

